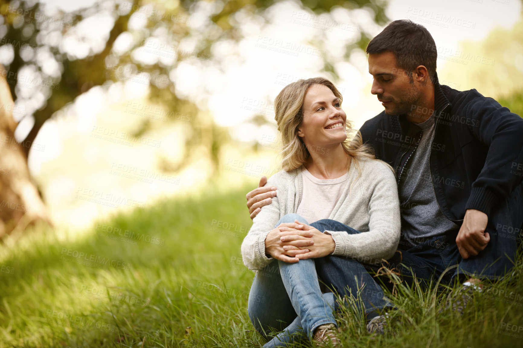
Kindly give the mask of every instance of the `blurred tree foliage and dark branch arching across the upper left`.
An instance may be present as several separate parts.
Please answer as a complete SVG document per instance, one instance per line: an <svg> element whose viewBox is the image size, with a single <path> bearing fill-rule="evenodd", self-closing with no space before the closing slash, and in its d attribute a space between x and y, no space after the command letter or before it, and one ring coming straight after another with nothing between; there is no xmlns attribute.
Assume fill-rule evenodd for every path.
<svg viewBox="0 0 523 348"><path fill-rule="evenodd" d="M35 125L26 137L26 142L31 144L38 134L43 123L51 118L56 111L71 105L76 97L83 94L93 86L101 86L108 80L126 80L133 74L149 74L150 76L150 98L160 102L166 109L173 112L181 112L189 115L199 115L191 124L194 127L194 138L187 139L185 146L185 158L190 156L190 150L198 145L204 145L208 149L207 155L217 166L220 147L228 137L225 130L216 126L212 115L200 116L197 105L184 98L178 98L175 93L176 82L170 79L169 73L178 63L186 57L177 55L175 61L165 63L158 60L154 64L144 64L133 57L133 51L143 48L150 38L160 38L167 45L177 48L178 44L185 39L196 40L194 55L205 57L211 63L215 57L212 55L213 43L220 40L238 41L243 37L240 23L235 19L235 14L244 11L247 14L256 14L267 22L264 10L275 4L275 0L229 0L195 2L164 1L164 0L133 0L132 3L124 1L101 1L93 6L81 8L71 13L59 13L50 18L42 10L42 4L33 0L12 0L0 5L0 14L3 19L3 33L0 49L5 49L8 44L14 47L14 59L6 68L8 74L17 74L24 67L30 67L42 80L46 80L49 86L35 86L33 96L38 95L40 104L37 110L28 114L34 117ZM205 22L201 28L189 26L191 14L194 14L198 6L210 6L210 21ZM316 14L331 11L336 6L348 9L368 8L374 13L374 20L383 25L388 20L384 14L385 2L382 0L304 0L304 8L310 8ZM203 6L203 5L202 5ZM64 47L65 39L70 38L72 29L86 18L107 11L114 19L114 25L108 37L103 38L101 49L91 47L87 55L75 56L67 52ZM139 28L130 28L129 21L133 14L138 13L146 18L146 24ZM132 44L125 52L116 52L113 49L115 41L124 34L131 34ZM85 43L85 38L77 38ZM363 47L369 41L369 34L361 32L358 42L351 44L353 48ZM67 41L69 44L71 41ZM25 51L25 52L22 52ZM347 50L350 52L350 49ZM38 54L35 54L37 53ZM45 57L43 57L45 53ZM43 59L45 58L45 59ZM59 67L58 74L51 74L44 69L44 65L54 60ZM207 62L205 62L207 64ZM327 70L332 66L325 64ZM118 73L115 73L118 72ZM21 96L16 88L16 79L10 83L13 98L28 99ZM30 98L29 98L30 99ZM41 102L43 99L43 103ZM20 101L20 100L18 100ZM135 130L135 134L141 134L149 127L144 122L142 129ZM208 138L202 138L202 134ZM26 152L29 148L25 147ZM26 153L26 154L27 154ZM181 162L182 164L184 161ZM185 162L186 163L186 162ZM165 168L179 170L180 165L165 164Z"/></svg>

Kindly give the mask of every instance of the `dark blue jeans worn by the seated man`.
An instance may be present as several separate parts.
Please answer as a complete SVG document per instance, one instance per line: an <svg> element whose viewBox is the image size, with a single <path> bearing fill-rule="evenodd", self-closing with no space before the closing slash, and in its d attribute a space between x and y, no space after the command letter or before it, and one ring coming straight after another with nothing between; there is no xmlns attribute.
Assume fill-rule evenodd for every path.
<svg viewBox="0 0 523 348"><path fill-rule="evenodd" d="M434 280L441 276L441 283L448 284L453 280L460 282L469 276L479 276L485 279L499 279L507 274L514 266L517 251L517 234L523 227L523 184L520 184L510 198L500 202L493 208L488 217L485 231L490 234L491 240L487 247L477 256L462 260L456 237L458 230L444 236L424 238L414 246L401 238L398 250L394 256L379 265L366 264L365 260L354 260L345 257L326 256L316 259L316 271L322 281L332 286L340 295L353 293L357 289L355 277L373 283L371 288L377 291L375 298L383 298L383 291L369 273L378 272L381 266L394 269L401 273L403 280L413 284L413 276L418 280ZM349 226L333 220L320 220L314 223L320 231L354 230ZM448 269L456 266L455 269ZM383 285L390 285L388 278L380 277ZM422 282L426 285L426 282ZM374 295L374 294L371 294Z"/></svg>

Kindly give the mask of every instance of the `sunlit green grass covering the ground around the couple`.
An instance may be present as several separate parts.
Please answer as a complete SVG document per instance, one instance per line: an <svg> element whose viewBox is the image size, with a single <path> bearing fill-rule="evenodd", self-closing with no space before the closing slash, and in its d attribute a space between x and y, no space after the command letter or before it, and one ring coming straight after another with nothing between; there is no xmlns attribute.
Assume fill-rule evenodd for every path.
<svg viewBox="0 0 523 348"><path fill-rule="evenodd" d="M100 222L81 237L40 227L7 239L0 246L0 347L263 344L246 312L254 277L240 254L251 226L246 191L165 201ZM130 230L135 239L107 226ZM64 260L67 253L71 259ZM85 259L92 261L71 262ZM523 346L523 339L503 334L523 338L521 271L517 264L511 284L499 282L475 296L463 316L438 314L447 292L399 284L390 294L398 308L391 332L377 338L366 333L349 301L338 317L344 346Z"/></svg>

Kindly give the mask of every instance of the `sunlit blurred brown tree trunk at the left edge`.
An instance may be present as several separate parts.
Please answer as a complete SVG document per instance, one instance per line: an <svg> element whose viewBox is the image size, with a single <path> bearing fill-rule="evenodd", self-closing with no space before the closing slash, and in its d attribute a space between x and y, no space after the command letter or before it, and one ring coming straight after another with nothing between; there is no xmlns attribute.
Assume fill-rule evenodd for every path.
<svg viewBox="0 0 523 348"><path fill-rule="evenodd" d="M1 64L0 73L6 76ZM15 140L14 105L7 81L0 78L0 239L38 221L50 223L24 149Z"/></svg>

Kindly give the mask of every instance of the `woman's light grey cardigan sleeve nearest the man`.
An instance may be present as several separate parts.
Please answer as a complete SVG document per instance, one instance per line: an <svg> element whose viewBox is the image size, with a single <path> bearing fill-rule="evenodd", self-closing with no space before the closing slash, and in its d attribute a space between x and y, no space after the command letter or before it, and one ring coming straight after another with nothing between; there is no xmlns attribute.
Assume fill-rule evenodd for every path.
<svg viewBox="0 0 523 348"><path fill-rule="evenodd" d="M370 185L363 186L364 192L371 192L369 231L359 234L325 231L336 243L333 255L370 264L394 255L401 232L400 201L394 173L382 161L373 162L374 165L370 166L372 172L362 173L362 177L372 178Z"/></svg>

